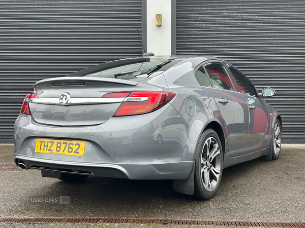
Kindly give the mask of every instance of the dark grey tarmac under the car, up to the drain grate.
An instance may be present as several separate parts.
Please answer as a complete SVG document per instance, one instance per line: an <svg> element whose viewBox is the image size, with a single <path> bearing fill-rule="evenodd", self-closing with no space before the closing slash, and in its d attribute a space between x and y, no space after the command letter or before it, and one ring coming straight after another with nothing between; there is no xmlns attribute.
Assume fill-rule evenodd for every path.
<svg viewBox="0 0 305 228"><path fill-rule="evenodd" d="M0 144L0 164L14 163L13 150L13 145ZM225 169L218 194L208 201L174 192L170 180L88 177L65 183L43 178L38 170L0 165L0 217L305 222L304 164L305 145L285 144L276 161L253 160ZM69 196L70 204L31 202L57 196Z"/></svg>

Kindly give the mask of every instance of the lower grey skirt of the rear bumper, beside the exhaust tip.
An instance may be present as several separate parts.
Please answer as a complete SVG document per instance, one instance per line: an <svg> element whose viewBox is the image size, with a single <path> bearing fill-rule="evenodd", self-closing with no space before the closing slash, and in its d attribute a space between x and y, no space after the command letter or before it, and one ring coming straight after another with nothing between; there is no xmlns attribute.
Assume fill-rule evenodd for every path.
<svg viewBox="0 0 305 228"><path fill-rule="evenodd" d="M188 179L193 161L160 164L107 164L77 163L46 160L15 155L15 163L24 163L28 169L41 169L54 172L74 172L75 174L94 174L102 177L128 179Z"/></svg>

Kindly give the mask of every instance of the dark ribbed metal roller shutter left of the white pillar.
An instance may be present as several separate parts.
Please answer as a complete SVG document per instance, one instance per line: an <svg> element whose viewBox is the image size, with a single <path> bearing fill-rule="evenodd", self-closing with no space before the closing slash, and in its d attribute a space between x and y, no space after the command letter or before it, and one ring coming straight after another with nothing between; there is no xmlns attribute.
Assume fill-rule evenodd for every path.
<svg viewBox="0 0 305 228"><path fill-rule="evenodd" d="M35 82L141 56L141 23L141 0L0 0L0 142Z"/></svg>

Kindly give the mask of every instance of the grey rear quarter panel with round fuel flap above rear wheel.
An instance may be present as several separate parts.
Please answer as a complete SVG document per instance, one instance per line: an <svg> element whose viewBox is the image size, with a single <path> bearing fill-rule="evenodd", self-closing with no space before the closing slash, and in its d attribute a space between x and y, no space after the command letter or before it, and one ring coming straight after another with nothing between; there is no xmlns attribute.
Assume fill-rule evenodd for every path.
<svg viewBox="0 0 305 228"><path fill-rule="evenodd" d="M164 72L164 77L169 89L177 94L171 104L189 126L198 133L196 142L206 126L213 121L222 127L226 141L226 127L218 106L214 98L202 89L194 76L194 69L205 60L205 58L198 57L181 61ZM226 148L227 146L225 146ZM225 153L227 153L226 150Z"/></svg>

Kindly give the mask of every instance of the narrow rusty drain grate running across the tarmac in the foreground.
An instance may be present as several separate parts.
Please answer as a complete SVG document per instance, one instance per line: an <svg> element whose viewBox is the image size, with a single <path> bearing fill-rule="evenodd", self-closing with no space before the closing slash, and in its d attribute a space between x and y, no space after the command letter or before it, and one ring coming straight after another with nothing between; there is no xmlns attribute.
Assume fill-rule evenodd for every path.
<svg viewBox="0 0 305 228"><path fill-rule="evenodd" d="M209 225L243 227L289 227L305 228L305 222L256 222L256 221L213 221L194 219L154 218L0 218L0 223L115 223L155 225Z"/></svg>

